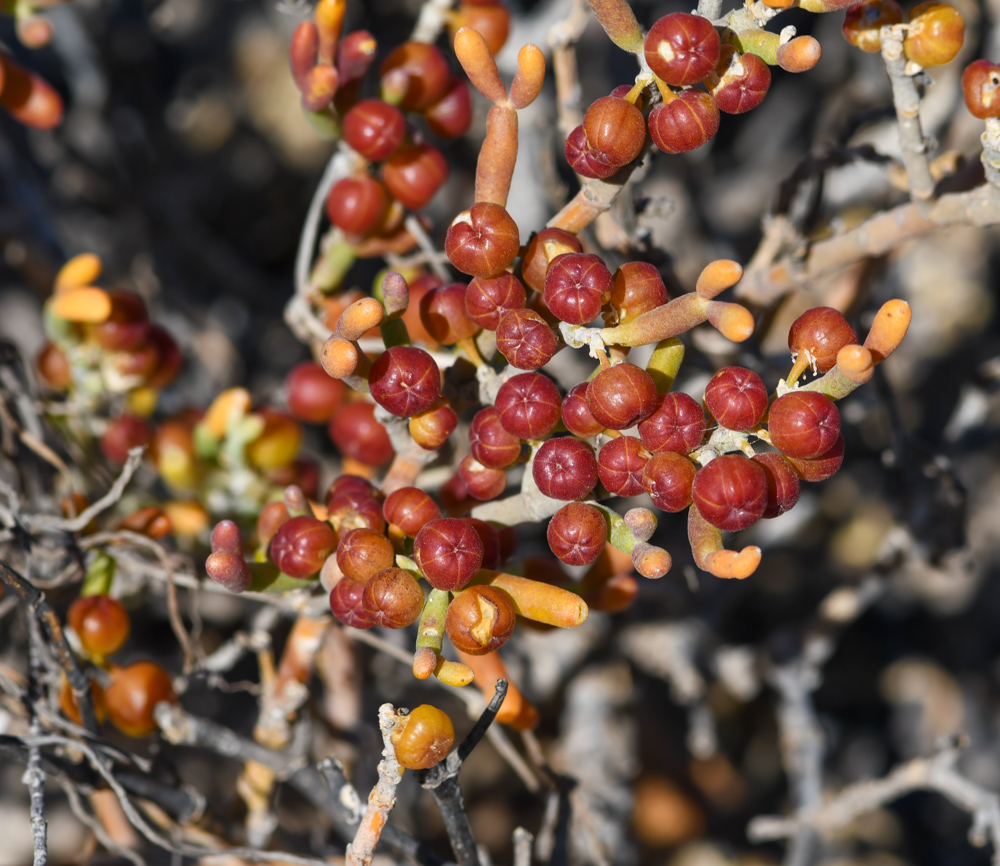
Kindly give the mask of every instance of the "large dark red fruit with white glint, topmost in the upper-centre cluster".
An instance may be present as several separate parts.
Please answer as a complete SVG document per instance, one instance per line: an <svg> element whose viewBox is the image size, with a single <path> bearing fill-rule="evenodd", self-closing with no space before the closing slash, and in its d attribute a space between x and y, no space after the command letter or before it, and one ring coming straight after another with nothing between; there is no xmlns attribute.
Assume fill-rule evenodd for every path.
<svg viewBox="0 0 1000 866"><path fill-rule="evenodd" d="M719 34L700 15L672 12L649 29L646 62L667 84L684 87L704 81L719 62Z"/></svg>

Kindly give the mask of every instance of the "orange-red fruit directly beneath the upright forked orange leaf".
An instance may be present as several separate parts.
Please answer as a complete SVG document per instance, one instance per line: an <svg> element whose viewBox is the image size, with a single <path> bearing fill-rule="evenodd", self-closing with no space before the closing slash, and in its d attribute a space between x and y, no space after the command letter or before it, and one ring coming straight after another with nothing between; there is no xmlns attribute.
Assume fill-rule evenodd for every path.
<svg viewBox="0 0 1000 866"><path fill-rule="evenodd" d="M444 239L449 261L463 274L495 277L514 261L521 248L517 223L493 202L476 202L462 211Z"/></svg>

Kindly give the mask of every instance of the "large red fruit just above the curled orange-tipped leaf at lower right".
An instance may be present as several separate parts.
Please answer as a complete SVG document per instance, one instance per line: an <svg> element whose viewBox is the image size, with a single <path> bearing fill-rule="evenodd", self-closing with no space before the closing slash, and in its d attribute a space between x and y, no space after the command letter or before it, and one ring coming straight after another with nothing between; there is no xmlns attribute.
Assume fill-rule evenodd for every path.
<svg viewBox="0 0 1000 866"><path fill-rule="evenodd" d="M742 454L722 454L698 470L691 496L705 520L736 532L763 516L767 476L763 467Z"/></svg>

